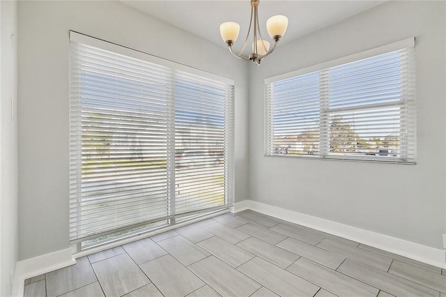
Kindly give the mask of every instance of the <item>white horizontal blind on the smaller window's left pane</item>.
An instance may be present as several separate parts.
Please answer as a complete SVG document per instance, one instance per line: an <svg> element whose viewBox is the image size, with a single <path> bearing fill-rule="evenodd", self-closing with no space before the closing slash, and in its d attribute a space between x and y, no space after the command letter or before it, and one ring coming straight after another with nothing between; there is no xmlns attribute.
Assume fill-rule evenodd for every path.
<svg viewBox="0 0 446 297"><path fill-rule="evenodd" d="M266 84L268 154L319 155L318 71Z"/></svg>

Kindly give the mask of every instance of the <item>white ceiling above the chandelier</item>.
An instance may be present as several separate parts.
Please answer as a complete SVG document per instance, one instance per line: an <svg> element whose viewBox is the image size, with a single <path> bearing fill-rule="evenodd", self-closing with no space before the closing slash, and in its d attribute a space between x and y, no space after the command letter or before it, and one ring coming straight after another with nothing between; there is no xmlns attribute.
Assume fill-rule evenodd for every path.
<svg viewBox="0 0 446 297"><path fill-rule="evenodd" d="M121 0L148 15L157 17L181 29L190 31L213 43L224 46L220 37L220 24L226 21L240 24L240 36L236 45L245 40L249 24L249 0L236 1L127 1ZM266 20L272 15L286 15L288 30L281 43L322 29L364 10L378 6L385 1L279 1L261 0L259 22L263 39L269 40Z"/></svg>

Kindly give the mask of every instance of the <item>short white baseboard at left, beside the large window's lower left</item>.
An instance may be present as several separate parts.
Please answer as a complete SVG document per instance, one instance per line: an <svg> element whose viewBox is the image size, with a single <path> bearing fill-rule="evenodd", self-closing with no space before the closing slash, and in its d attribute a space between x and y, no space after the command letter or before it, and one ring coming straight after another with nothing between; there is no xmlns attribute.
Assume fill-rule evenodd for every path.
<svg viewBox="0 0 446 297"><path fill-rule="evenodd" d="M13 296L23 296L24 282L27 278L49 273L50 271L55 271L56 269L73 264L76 264L76 260L72 257L71 248L18 261L15 267Z"/></svg>

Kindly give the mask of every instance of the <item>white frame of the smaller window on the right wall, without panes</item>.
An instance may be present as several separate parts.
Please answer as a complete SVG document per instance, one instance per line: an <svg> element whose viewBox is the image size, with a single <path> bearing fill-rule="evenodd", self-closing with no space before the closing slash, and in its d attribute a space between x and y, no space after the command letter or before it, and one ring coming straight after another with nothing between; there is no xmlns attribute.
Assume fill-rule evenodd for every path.
<svg viewBox="0 0 446 297"><path fill-rule="evenodd" d="M264 114L265 114L265 141L264 141L264 156L265 157L278 157L278 158L306 158L306 159L312 159L312 160L338 160L338 161L355 161L355 162L381 162L381 163L392 163L392 164L408 164L408 165L415 165L416 164L416 115L415 115L415 90L413 91L413 94L410 94L412 97L411 99L407 99L401 103L395 103L395 102L384 102L384 103L370 103L369 105L357 105L352 107L334 107L330 108L330 96L326 95L328 94L327 90L321 92L321 86L328 86L328 83L321 83L321 77L328 77L328 73L330 71L330 68L334 68L336 66L341 66L347 63L360 61L362 59L371 58L374 56L379 56L381 54L387 54L390 52L396 52L398 50L412 50L413 47L415 47L415 37L413 38L407 38L405 40L399 40L395 43L391 43L388 45L383 45L381 47L376 47L371 50L366 50L364 52L359 52L355 54L351 54L349 56L344 56L339 59L334 59L332 61L327 61L324 63L319 63L314 66L309 66L307 68L302 68L299 70L291 71L290 73L284 73L282 75L276 75L274 77L269 77L264 80L264 86L265 86L265 94L264 94ZM415 64L415 54L411 53L411 61L408 63L414 63ZM318 90L319 90L319 123L317 125L317 128L319 130L319 151L318 155L305 155L305 154L292 154L292 153L285 153L285 154L279 154L274 153L272 151L273 146L273 137L274 132L273 129L273 120L272 120L272 105L274 104L274 98L270 96L270 86L275 82L281 82L285 79L291 79L295 77L299 77L301 75L307 75L312 73L318 73L319 79L318 79ZM415 89L415 71L413 73L413 81L410 81L413 83L413 88ZM407 88L406 88L407 89ZM404 89L404 91L407 91ZM407 94L404 94L406 96ZM392 158L392 159L384 159L379 157L378 155L370 155L369 157L361 156L358 158L355 155L330 155L330 114L334 114L336 112L350 112L350 111L360 111L360 110L366 110L366 109L376 109L376 108L385 108L385 107L397 107L397 106L403 106L406 107L406 112L410 114L411 120L413 121L413 158L408 160L407 156L402 156L401 158ZM322 136L322 135L325 135ZM407 138L404 138L405 140L403 143L407 142ZM325 140L323 142L322 140Z"/></svg>

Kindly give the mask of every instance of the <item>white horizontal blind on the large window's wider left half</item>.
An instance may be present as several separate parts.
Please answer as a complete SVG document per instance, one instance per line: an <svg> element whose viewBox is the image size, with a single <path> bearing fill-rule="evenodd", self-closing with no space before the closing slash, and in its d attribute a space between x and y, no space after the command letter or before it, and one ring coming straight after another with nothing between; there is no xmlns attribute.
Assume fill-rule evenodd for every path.
<svg viewBox="0 0 446 297"><path fill-rule="evenodd" d="M167 216L168 68L71 43L70 238Z"/></svg>

